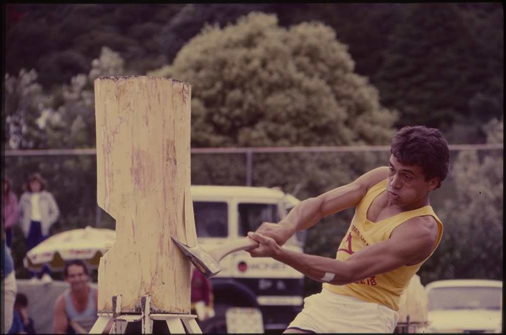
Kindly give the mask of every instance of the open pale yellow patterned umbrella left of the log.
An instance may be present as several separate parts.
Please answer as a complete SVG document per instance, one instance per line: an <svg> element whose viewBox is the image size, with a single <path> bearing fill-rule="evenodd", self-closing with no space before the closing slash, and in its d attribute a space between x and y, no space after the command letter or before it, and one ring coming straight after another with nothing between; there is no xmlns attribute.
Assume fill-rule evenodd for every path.
<svg viewBox="0 0 506 335"><path fill-rule="evenodd" d="M90 269L97 269L100 258L116 241L116 231L86 227L60 232L26 253L25 268L40 271L44 264L51 270L63 269L65 261L84 260Z"/></svg>

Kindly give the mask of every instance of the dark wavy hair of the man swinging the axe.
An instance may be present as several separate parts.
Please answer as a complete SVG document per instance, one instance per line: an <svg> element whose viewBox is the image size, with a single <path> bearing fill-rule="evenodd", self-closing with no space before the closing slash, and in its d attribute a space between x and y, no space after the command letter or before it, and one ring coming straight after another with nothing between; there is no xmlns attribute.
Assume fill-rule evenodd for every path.
<svg viewBox="0 0 506 335"><path fill-rule="evenodd" d="M425 126L406 126L392 138L390 153L405 165L419 165L425 180L439 177L441 187L450 171L448 142L439 129Z"/></svg>

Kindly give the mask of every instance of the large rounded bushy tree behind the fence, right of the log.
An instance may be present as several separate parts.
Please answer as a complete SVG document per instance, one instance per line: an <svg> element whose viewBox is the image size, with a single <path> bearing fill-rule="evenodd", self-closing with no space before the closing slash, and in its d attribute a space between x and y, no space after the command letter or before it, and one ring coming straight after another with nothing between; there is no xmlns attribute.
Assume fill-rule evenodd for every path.
<svg viewBox="0 0 506 335"><path fill-rule="evenodd" d="M148 74L192 85L192 147L387 144L397 120L377 90L354 72L346 45L321 23L278 26L250 13L207 26L172 65ZM388 154L257 154L253 185L299 190L306 199L385 164ZM244 184L244 158L192 157L192 183ZM298 192L298 191L297 191ZM308 231L306 252L335 257L351 212ZM307 292L316 290L307 280Z"/></svg>

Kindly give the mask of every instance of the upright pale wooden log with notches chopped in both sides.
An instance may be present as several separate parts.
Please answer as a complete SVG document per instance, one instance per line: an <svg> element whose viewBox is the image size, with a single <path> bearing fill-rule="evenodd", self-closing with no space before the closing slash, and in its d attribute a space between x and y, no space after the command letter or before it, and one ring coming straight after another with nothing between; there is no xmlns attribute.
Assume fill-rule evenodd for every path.
<svg viewBox="0 0 506 335"><path fill-rule="evenodd" d="M97 199L116 220L98 269L98 311L190 313L190 264L171 240L197 243L190 194L191 86L145 77L95 80Z"/></svg>

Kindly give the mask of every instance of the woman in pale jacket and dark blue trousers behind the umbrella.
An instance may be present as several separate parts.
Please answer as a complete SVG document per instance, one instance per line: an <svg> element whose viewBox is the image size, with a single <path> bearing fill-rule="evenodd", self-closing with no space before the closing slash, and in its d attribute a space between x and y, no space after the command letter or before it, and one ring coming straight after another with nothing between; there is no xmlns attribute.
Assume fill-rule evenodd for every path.
<svg viewBox="0 0 506 335"><path fill-rule="evenodd" d="M29 175L24 189L25 192L19 199L19 225L28 252L49 237L49 230L58 220L60 210L53 195L46 190L46 181L40 173ZM36 273L30 272L30 277L35 275ZM51 271L45 265L38 276L51 280Z"/></svg>

